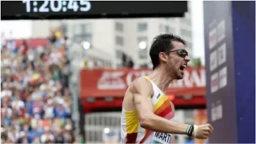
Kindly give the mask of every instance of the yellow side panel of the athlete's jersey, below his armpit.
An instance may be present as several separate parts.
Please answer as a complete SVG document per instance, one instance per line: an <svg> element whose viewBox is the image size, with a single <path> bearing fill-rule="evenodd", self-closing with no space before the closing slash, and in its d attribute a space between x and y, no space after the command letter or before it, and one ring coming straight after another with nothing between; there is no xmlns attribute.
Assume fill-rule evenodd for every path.
<svg viewBox="0 0 256 144"><path fill-rule="evenodd" d="M127 134L138 133L138 115L137 111L125 111Z"/></svg>

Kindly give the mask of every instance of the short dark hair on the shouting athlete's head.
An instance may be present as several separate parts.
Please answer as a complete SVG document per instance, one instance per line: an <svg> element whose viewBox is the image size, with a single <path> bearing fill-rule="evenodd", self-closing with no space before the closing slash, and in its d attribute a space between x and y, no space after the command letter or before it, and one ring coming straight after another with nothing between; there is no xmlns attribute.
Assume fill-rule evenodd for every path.
<svg viewBox="0 0 256 144"><path fill-rule="evenodd" d="M153 70L159 65L159 53L170 51L174 48L171 43L173 41L182 42L186 45L186 42L182 38L174 34L160 34L154 38L150 46L150 58L153 64Z"/></svg>

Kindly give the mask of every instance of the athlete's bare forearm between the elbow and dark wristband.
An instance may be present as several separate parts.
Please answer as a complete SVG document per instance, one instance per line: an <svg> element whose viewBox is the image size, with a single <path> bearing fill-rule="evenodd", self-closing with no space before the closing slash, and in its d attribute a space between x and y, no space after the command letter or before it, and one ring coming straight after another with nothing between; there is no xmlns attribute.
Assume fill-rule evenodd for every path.
<svg viewBox="0 0 256 144"><path fill-rule="evenodd" d="M141 126L146 130L157 131L168 134L186 134L187 124L181 122L172 122L166 118L152 114L142 120Z"/></svg>

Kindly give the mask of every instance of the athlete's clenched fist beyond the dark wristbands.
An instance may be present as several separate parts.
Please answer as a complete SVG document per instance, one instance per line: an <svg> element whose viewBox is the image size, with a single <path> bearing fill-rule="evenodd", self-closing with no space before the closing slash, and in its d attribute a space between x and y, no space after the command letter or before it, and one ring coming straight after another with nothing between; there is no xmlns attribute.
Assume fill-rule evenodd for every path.
<svg viewBox="0 0 256 144"><path fill-rule="evenodd" d="M194 138L198 139L209 138L210 134L212 134L214 131L213 126L211 126L209 123L205 125L195 126L195 129L197 130L194 130Z"/></svg>

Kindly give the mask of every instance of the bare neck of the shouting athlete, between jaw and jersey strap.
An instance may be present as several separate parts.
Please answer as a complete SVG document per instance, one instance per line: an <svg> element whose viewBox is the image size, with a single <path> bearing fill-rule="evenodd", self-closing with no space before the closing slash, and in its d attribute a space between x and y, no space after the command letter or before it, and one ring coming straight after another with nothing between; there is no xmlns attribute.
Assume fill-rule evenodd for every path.
<svg viewBox="0 0 256 144"><path fill-rule="evenodd" d="M151 81L154 82L158 86L163 93L165 93L166 89L170 85L170 82L174 80L171 78L169 74L166 73L166 70L161 70L160 67L154 70L153 74L149 75Z"/></svg>

